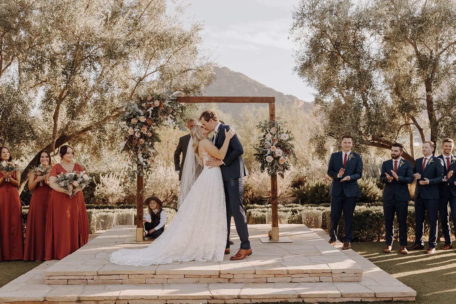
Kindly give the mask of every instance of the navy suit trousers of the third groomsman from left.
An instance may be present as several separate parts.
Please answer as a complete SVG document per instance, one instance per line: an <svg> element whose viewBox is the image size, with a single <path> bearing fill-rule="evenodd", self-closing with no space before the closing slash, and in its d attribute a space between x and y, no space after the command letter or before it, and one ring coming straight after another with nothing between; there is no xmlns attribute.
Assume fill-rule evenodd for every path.
<svg viewBox="0 0 456 304"><path fill-rule="evenodd" d="M439 199L427 200L420 195L415 197L415 243L424 245L423 233L425 230L425 215L429 220L429 247L437 246L437 218L439 211Z"/></svg>

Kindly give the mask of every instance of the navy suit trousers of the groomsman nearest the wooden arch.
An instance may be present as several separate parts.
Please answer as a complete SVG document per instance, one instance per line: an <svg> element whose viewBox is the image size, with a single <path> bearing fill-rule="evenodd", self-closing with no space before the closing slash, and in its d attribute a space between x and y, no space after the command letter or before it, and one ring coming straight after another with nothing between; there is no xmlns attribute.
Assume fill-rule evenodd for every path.
<svg viewBox="0 0 456 304"><path fill-rule="evenodd" d="M331 196L331 213L329 222L329 236L331 241L336 242L339 220L344 220L344 237L342 242L352 242L353 236L353 211L355 211L357 196L347 197L342 190L338 196Z"/></svg>

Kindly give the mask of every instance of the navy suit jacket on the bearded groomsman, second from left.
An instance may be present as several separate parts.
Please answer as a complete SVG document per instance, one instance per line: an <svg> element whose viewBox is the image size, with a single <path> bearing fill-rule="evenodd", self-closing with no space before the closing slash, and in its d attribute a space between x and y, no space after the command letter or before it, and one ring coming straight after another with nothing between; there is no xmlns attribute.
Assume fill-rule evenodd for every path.
<svg viewBox="0 0 456 304"><path fill-rule="evenodd" d="M400 162L403 162L404 165L400 165ZM383 189L383 200L391 201L394 198L396 201L410 201L410 192L408 184L413 182L413 169L412 163L408 160L401 159L398 162L398 168L396 174L399 179L389 181L386 178L385 173L393 176L391 170L394 170L393 160L384 161L382 164L382 172L380 173L380 181L385 184Z"/></svg>

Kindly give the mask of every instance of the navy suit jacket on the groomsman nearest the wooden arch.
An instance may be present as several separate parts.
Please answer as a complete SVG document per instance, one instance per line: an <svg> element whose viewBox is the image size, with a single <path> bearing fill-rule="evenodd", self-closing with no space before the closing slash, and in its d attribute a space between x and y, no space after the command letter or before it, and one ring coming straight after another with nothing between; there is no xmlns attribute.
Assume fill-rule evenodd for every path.
<svg viewBox="0 0 456 304"><path fill-rule="evenodd" d="M342 151L333 153L329 159L328 175L332 178L331 188L329 190L330 195L339 196L344 191L347 197L360 196L358 180L363 174L363 159L361 155L351 152L350 155L354 155L351 159L347 158L347 164L345 165L345 172L342 177L338 178L339 170L343 167ZM350 180L341 180L349 175Z"/></svg>

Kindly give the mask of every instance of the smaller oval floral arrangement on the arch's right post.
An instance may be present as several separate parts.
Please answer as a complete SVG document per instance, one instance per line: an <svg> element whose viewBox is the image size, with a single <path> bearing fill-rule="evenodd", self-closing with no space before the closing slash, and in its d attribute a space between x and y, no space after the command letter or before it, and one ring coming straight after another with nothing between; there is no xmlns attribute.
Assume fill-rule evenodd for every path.
<svg viewBox="0 0 456 304"><path fill-rule="evenodd" d="M275 121L264 120L257 125L261 129L262 135L255 138L258 143L252 144L257 153L255 159L259 161L261 172L266 170L269 175L278 174L284 178L285 171L291 169L290 158L296 162L295 146L291 131L285 128L286 122L280 121L278 117Z"/></svg>

